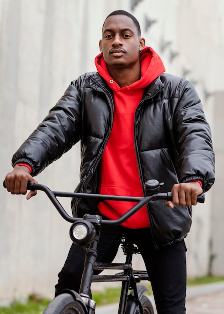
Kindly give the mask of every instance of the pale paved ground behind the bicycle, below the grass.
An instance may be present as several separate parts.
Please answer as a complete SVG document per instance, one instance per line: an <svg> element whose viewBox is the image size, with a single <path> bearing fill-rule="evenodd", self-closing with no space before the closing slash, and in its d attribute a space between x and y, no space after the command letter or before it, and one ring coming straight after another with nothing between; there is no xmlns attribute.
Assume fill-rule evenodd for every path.
<svg viewBox="0 0 224 314"><path fill-rule="evenodd" d="M153 297L150 296L155 306ZM187 314L224 314L224 282L192 286L187 289ZM156 309L155 314L157 314ZM100 306L96 314L116 314L117 304Z"/></svg>

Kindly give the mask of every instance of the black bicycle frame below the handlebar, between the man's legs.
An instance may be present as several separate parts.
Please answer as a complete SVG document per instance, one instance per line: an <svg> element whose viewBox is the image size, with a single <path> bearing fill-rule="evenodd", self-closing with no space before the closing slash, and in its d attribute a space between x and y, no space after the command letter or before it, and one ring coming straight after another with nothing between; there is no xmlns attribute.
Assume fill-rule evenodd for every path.
<svg viewBox="0 0 224 314"><path fill-rule="evenodd" d="M97 217L98 216L96 216L96 220L98 221ZM91 221L94 224L92 215L91 215ZM125 243L126 239L122 238L121 243L123 245L123 250L126 254L125 263L96 262L98 239L99 239L99 233L97 232L96 237L94 241L90 243L90 246L84 247L85 263L84 263L84 270L82 274L79 294L83 297L83 300L85 304L87 305L88 313L92 314L95 312L95 304L92 302L93 300L90 298L90 294L91 294L90 286L92 282L121 281L122 286L121 286L118 313L125 314L128 290L133 289L134 290L133 297L135 298L135 301L139 306L140 313L143 314L143 309L140 302L140 296L143 294L142 292L144 293L147 292L148 294L150 293L148 289L145 287L144 291L142 291L141 294L139 294L137 291L136 283L140 282L143 279L149 280L149 277L146 271L136 272L136 271L133 271L132 269L132 256L133 256L133 253L138 253L137 248L136 247L131 248L128 243ZM115 275L94 275L94 270L105 270L105 269L119 269L119 270L123 270L123 273L117 273Z"/></svg>

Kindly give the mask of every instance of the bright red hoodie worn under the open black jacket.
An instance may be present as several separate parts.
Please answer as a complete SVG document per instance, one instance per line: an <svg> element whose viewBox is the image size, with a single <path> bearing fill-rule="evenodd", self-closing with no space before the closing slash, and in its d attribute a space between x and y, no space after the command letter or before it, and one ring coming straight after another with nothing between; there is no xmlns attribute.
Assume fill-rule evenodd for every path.
<svg viewBox="0 0 224 314"><path fill-rule="evenodd" d="M141 79L120 88L110 76L103 55L95 59L98 73L107 81L114 94L114 122L101 160L100 194L143 196L134 146L134 115L142 99L144 88L165 71L160 57L150 47L140 55ZM117 219L135 203L104 201L99 211L110 219ZM137 229L149 227L146 206L122 224Z"/></svg>

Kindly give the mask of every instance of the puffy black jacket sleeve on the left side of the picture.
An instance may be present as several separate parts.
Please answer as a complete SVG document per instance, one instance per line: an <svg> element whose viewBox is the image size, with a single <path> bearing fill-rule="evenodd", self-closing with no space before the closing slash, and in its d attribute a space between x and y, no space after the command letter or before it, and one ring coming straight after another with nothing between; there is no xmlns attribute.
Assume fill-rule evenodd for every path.
<svg viewBox="0 0 224 314"><path fill-rule="evenodd" d="M76 80L16 151L12 165L28 163L36 176L68 151L80 139L80 132L81 93Z"/></svg>

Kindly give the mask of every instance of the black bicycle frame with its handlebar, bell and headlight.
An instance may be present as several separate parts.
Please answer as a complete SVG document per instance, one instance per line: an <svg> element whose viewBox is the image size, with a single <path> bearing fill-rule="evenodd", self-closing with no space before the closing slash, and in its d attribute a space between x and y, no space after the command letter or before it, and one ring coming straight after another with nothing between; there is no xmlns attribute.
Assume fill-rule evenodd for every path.
<svg viewBox="0 0 224 314"><path fill-rule="evenodd" d="M94 314L96 303L91 299L91 283L92 282L104 282L104 281L121 281L121 296L119 302L119 314L126 313L126 305L128 302L128 297L134 298L134 303L130 302L131 310L130 312L135 313L136 307L133 309L132 306L139 306L139 311L143 314L143 307L141 304L141 297L145 292L149 293L145 286L137 288L136 283L141 280L149 280L146 271L134 271L132 269L132 256L133 253L138 253L137 247L131 243L130 245L126 243L125 238L122 239L121 243L123 245L123 250L126 255L125 263L102 263L96 262L97 258L97 244L100 237L101 225L108 226L119 226L129 217L140 210L144 205L155 200L170 200L172 201L172 193L158 193L159 184L156 180L151 180L152 184L148 181L147 192L148 196L145 197L124 197L124 196L111 196L111 195L99 195L99 194L87 194L87 193L69 193L69 192L57 192L50 190L47 186L41 184L35 184L33 182L28 183L28 190L40 190L47 194L55 208L58 210L60 215L68 222L72 223L70 229L70 236L74 243L82 245L85 252L85 264L81 279L81 285L79 293L72 290L64 290L63 292L70 293L75 300L80 301L84 305L84 310L86 314ZM147 184L146 183L146 184ZM151 192L150 192L151 191ZM100 200L114 200L114 201L129 201L137 202L127 213L116 220L103 220L98 215L84 215L83 218L71 217L60 204L57 197L69 197L69 198L94 198ZM197 201L200 203L204 202L204 194L198 196ZM86 232L85 237L82 238L80 235L76 234L76 227L79 226L83 228ZM84 232L84 233L85 233ZM122 273L117 273L115 275L95 275L94 270L104 270L104 269L118 269L123 270ZM133 293L128 295L128 290L133 289ZM150 294L150 293L149 293ZM133 305L134 304L134 305Z"/></svg>

